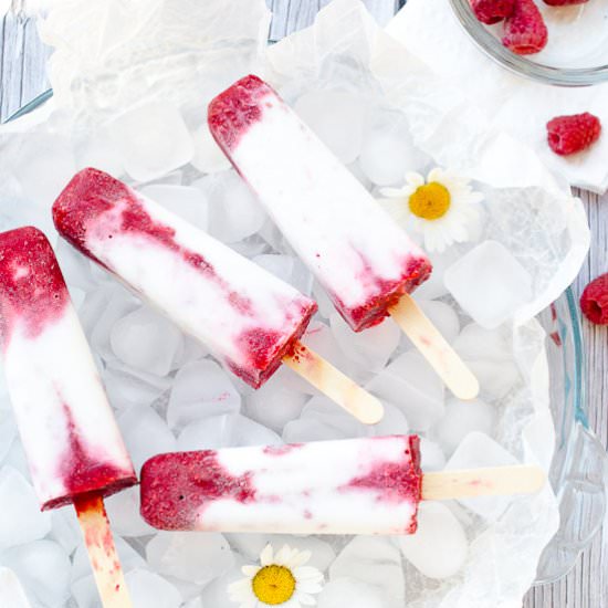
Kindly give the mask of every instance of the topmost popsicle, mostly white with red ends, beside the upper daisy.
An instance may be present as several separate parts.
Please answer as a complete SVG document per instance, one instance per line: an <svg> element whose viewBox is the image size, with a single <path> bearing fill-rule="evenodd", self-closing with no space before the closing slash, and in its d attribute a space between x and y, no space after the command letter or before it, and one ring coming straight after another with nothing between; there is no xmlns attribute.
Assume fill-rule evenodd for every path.
<svg viewBox="0 0 608 608"><path fill-rule="evenodd" d="M426 254L287 107L249 75L209 105L211 134L355 332L392 315L452 391L479 384L408 296Z"/></svg>

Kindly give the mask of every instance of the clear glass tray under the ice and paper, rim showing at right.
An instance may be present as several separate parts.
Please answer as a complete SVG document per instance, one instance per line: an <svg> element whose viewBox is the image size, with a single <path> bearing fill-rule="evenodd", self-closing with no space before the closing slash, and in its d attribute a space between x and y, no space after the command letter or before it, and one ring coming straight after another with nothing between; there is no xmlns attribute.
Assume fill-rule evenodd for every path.
<svg viewBox="0 0 608 608"><path fill-rule="evenodd" d="M9 120L32 112L51 96L51 91L43 93ZM587 421L583 334L572 290L566 290L538 315L538 321L547 333L551 408L556 432L549 480L562 518L538 564L535 584L542 585L567 574L599 531L606 511L608 454Z"/></svg>

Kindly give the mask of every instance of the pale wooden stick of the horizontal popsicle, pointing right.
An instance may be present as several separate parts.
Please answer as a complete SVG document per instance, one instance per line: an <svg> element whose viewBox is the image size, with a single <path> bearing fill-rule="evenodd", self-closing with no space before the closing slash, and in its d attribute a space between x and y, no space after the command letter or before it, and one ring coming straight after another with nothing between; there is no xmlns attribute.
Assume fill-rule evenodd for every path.
<svg viewBox="0 0 608 608"><path fill-rule="evenodd" d="M546 479L539 467L520 464L424 473L422 500L448 501L470 496L533 494L543 488Z"/></svg>

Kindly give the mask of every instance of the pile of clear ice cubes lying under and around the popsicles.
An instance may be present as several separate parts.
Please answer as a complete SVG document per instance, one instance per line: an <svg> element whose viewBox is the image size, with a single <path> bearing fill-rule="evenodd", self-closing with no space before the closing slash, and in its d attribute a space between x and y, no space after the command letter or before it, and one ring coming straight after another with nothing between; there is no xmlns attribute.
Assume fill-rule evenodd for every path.
<svg viewBox="0 0 608 608"><path fill-rule="evenodd" d="M400 186L407 170L433 166L394 109L323 90L295 99L295 108L374 193ZM522 458L500 439L505 409L526 391L510 321L530 300L532 276L516 252L486 239L483 230L474 242L431 254L434 272L415 295L481 381L479 399L462 402L391 319L363 334L347 327L229 167L202 119L186 120L177 107L154 102L76 143L51 128L24 134L11 146L4 193L10 191L12 207L3 207L2 230L35 223L54 241L49 209L69 178L85 166L109 171L317 300L319 313L304 342L386 407L382 422L365 427L286 367L253 391L205 346L60 241L61 265L137 469L153 454L174 450L407 432L422 437L426 471ZM488 216L492 210L484 205ZM542 352L541 344L536 348ZM423 503L418 534L394 538L156 532L138 514L137 489L109 499L107 507L136 608L232 608L228 585L268 542L313 552L312 565L327 580L321 608L398 608L406 597L423 597L427 584L420 580L432 587L433 580L458 577L470 543L511 503ZM0 565L6 568L0 598L11 598L12 607L98 605L73 511L39 512L6 390Z"/></svg>

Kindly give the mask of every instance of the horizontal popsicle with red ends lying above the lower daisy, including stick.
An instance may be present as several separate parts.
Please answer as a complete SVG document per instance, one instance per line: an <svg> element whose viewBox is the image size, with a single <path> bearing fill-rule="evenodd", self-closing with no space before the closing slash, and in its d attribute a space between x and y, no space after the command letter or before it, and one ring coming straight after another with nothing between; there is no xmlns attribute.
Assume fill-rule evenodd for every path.
<svg viewBox="0 0 608 608"><path fill-rule="evenodd" d="M419 439L392 436L159 454L141 515L161 530L413 534L420 500L534 492L534 467L422 474Z"/></svg>

